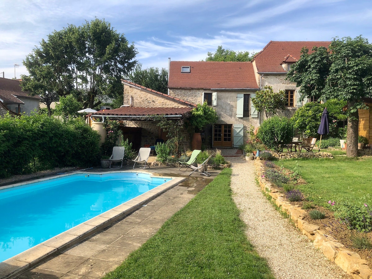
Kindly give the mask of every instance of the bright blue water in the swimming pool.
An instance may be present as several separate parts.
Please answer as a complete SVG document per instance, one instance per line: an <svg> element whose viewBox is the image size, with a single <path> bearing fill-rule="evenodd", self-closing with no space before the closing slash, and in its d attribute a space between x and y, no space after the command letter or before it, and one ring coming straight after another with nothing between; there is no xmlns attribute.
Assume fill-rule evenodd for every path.
<svg viewBox="0 0 372 279"><path fill-rule="evenodd" d="M0 262L169 180L79 173L0 190Z"/></svg>

